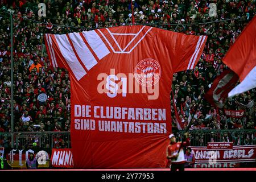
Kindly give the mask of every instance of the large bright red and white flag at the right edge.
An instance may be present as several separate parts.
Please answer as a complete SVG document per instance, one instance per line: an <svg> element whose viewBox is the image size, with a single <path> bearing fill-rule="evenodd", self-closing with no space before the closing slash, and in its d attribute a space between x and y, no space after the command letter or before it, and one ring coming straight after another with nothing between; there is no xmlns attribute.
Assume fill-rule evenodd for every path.
<svg viewBox="0 0 256 182"><path fill-rule="evenodd" d="M229 97L256 87L256 16L226 53L223 62L237 73L241 82L228 94Z"/></svg>

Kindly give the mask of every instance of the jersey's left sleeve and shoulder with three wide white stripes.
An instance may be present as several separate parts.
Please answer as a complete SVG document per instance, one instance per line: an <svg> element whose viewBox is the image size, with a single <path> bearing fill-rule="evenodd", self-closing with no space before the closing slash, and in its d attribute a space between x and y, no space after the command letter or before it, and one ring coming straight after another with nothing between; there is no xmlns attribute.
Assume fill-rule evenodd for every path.
<svg viewBox="0 0 256 182"><path fill-rule="evenodd" d="M95 31L44 35L52 67L65 68L80 80L109 51Z"/></svg>

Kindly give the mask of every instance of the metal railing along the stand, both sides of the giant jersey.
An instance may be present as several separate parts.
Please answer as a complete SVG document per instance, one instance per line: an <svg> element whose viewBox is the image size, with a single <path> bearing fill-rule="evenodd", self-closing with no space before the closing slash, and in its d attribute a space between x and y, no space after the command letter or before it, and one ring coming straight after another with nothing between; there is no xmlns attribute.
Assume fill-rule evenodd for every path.
<svg viewBox="0 0 256 182"><path fill-rule="evenodd" d="M234 145L256 144L256 130L189 130L191 146L207 146L208 142L234 142ZM70 132L14 132L0 133L0 146L10 147L14 136L14 148L28 148L36 143L39 148L71 148ZM174 131L181 140L184 131Z"/></svg>

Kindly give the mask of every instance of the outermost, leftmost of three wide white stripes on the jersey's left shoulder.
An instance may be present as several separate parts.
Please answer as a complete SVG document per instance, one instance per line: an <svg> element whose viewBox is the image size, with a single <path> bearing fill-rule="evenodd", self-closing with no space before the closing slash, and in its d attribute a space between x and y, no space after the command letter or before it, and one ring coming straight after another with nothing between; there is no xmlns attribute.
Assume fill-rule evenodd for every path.
<svg viewBox="0 0 256 182"><path fill-rule="evenodd" d="M75 53L71 45L69 44L68 38L66 35L55 35L57 44L60 48L60 52L63 55L64 59L67 61L67 64L71 68L73 74L76 76L77 80L80 80L83 76L86 75L84 68L77 60Z"/></svg>

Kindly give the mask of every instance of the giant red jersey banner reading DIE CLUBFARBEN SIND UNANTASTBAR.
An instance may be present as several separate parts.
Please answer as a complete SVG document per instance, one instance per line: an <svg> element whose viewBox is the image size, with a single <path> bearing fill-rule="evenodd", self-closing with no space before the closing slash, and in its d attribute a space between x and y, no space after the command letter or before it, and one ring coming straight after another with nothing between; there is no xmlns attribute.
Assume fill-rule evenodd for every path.
<svg viewBox="0 0 256 182"><path fill-rule="evenodd" d="M207 36L121 26L45 40L71 76L74 167L165 167L172 74L195 68Z"/></svg>

